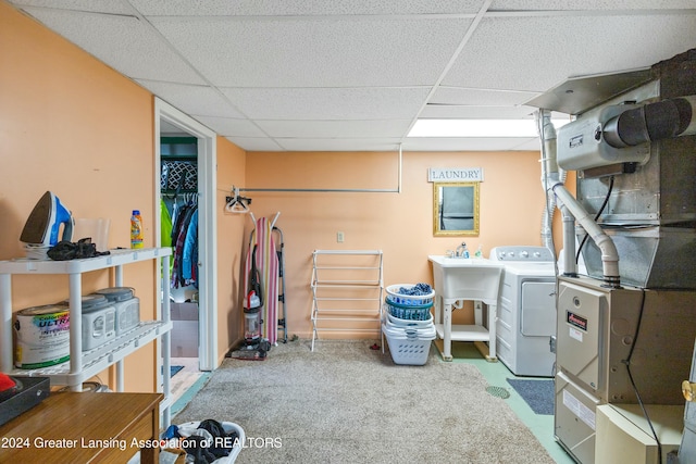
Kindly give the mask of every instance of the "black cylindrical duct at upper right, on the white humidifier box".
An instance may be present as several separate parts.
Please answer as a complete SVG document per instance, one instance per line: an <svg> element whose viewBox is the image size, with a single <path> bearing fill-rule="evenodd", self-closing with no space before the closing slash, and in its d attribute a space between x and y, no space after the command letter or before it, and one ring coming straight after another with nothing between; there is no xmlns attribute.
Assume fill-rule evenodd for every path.
<svg viewBox="0 0 696 464"><path fill-rule="evenodd" d="M679 97L626 110L607 121L604 139L613 148L696 134L696 96Z"/></svg>

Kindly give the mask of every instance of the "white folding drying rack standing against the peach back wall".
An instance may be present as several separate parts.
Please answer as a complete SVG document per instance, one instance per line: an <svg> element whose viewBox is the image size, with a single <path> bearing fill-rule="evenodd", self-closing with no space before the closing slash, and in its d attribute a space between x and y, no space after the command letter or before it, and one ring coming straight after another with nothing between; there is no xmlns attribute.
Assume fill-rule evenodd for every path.
<svg viewBox="0 0 696 464"><path fill-rule="evenodd" d="M314 250L312 351L320 330L382 333L383 262L382 250Z"/></svg>

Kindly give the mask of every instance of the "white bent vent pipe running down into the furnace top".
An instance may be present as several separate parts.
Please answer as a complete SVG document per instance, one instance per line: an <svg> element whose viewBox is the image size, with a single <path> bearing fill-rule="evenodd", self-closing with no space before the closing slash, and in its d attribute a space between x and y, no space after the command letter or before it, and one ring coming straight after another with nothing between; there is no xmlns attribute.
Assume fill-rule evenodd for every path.
<svg viewBox="0 0 696 464"><path fill-rule="evenodd" d="M542 137L542 154L544 163L542 163L544 173L544 188L547 192L554 193L568 212L575 217L575 221L585 229L589 238L595 242L601 251L601 267L605 284L612 288L621 286L621 277L619 275L619 252L611 238L595 222L594 217L585 210L585 208L573 197L558 175L558 162L556 158L556 129L550 121L548 111L542 110L543 127L539 136ZM547 139L548 138L548 139ZM566 236L566 235L564 235ZM574 238L573 241L574 243ZM574 248L568 242L563 243L563 248ZM573 262L575 256L572 258Z"/></svg>

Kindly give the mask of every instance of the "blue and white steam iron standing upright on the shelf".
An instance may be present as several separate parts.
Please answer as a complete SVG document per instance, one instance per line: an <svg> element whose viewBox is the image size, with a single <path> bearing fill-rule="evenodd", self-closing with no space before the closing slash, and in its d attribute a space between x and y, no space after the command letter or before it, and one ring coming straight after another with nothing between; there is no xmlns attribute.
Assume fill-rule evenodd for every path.
<svg viewBox="0 0 696 464"><path fill-rule="evenodd" d="M63 234L59 239L61 225ZM29 214L20 241L40 248L53 247L60 240L72 240L74 225L75 220L71 212L53 192L47 191Z"/></svg>

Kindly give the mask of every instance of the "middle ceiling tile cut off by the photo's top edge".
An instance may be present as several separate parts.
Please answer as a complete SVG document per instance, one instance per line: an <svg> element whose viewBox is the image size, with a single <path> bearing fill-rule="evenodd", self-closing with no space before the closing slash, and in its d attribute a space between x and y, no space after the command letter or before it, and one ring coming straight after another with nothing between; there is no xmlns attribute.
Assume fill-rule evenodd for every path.
<svg viewBox="0 0 696 464"><path fill-rule="evenodd" d="M130 0L148 15L357 15L475 13L483 0Z"/></svg>

